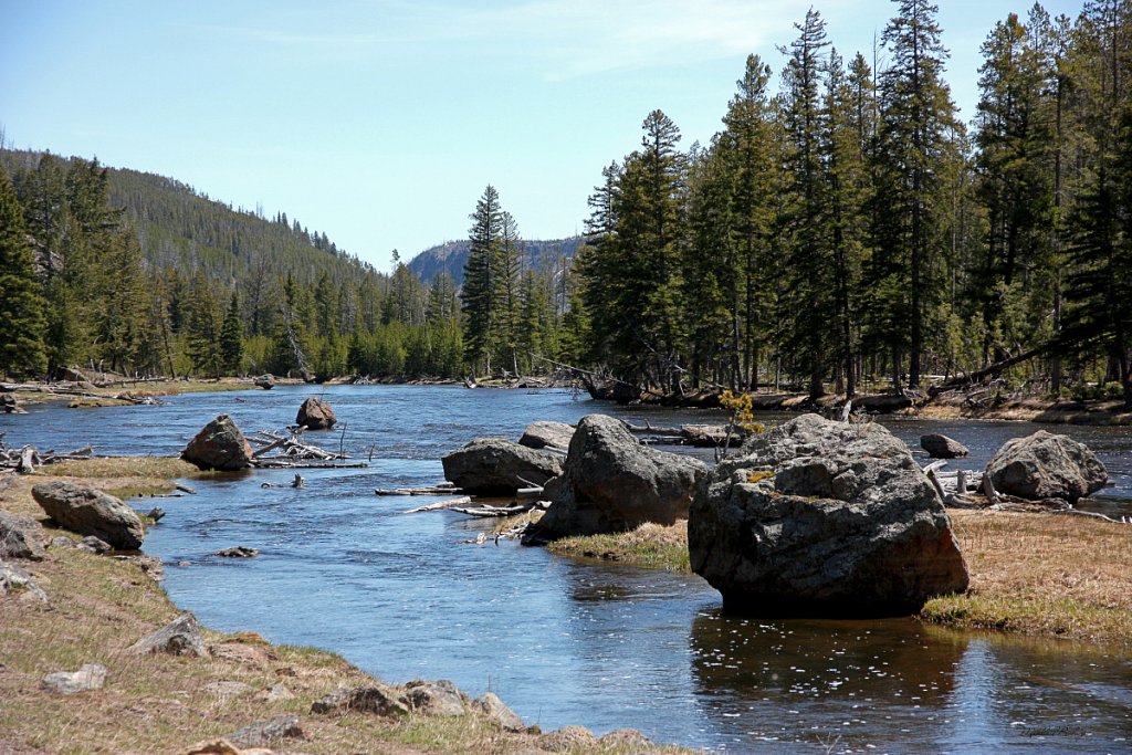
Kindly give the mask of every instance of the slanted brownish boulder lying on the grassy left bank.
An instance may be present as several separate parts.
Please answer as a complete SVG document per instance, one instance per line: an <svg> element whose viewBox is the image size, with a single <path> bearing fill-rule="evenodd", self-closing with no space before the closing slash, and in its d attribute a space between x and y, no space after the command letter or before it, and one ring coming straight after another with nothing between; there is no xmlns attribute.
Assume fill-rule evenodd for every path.
<svg viewBox="0 0 1132 755"><path fill-rule="evenodd" d="M111 495L70 482L41 482L32 488L40 508L60 526L94 535L119 550L137 550L145 529L134 509Z"/></svg>

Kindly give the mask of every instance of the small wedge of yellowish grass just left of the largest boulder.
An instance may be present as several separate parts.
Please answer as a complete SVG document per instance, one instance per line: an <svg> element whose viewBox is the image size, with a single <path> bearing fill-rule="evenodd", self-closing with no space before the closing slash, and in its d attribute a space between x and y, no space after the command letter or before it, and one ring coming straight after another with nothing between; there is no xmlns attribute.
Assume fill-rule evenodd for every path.
<svg viewBox="0 0 1132 755"><path fill-rule="evenodd" d="M645 568L688 573L688 523L670 526L645 523L629 532L564 538L548 548L559 556L624 561Z"/></svg>

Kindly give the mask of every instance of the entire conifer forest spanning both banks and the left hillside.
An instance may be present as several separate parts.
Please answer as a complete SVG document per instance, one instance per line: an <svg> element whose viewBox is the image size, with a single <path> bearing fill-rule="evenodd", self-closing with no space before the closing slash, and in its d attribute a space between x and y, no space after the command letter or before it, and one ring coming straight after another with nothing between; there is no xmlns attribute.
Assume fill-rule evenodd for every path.
<svg viewBox="0 0 1132 755"><path fill-rule="evenodd" d="M1132 405L1132 1L1002 18L969 122L936 7L893 10L875 50L840 51L811 9L736 70L706 144L644 114L640 147L594 166L576 255L531 263L506 197L470 197L458 286L173 179L7 149L0 372L569 364L813 397L993 375Z"/></svg>

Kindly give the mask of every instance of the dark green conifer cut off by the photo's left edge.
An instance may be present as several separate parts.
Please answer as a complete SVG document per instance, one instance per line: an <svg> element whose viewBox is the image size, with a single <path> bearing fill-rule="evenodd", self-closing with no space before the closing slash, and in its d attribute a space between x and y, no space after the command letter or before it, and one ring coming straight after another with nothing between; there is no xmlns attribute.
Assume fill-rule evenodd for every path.
<svg viewBox="0 0 1132 755"><path fill-rule="evenodd" d="M38 289L16 190L0 166L0 372L41 375L48 368Z"/></svg>

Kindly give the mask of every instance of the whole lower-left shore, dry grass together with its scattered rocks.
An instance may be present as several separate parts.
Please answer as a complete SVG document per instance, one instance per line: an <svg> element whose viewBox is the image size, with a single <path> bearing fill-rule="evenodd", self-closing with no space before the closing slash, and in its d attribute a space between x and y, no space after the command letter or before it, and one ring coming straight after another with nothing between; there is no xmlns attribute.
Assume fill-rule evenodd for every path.
<svg viewBox="0 0 1132 755"><path fill-rule="evenodd" d="M160 561L87 546L33 500L33 486L52 483L172 488L126 477L132 461L0 478L0 529L19 533L0 538L0 752L314 754L376 743L398 755L688 752L627 729L542 732L490 693L471 700L444 680L389 685L333 653L200 627L161 590ZM169 477L192 470L165 466Z"/></svg>

